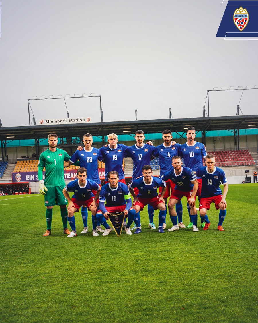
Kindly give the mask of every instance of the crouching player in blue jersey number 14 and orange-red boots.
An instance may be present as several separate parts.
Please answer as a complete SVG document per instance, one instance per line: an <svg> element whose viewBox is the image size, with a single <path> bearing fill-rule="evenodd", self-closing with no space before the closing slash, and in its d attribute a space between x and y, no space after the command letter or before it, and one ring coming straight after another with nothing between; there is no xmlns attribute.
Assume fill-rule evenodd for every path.
<svg viewBox="0 0 258 323"><path fill-rule="evenodd" d="M224 231L222 223L226 216L227 202L225 200L228 192L228 183L224 171L215 166L215 157L212 154L206 156L206 166L201 167L197 172L197 176L202 178L202 191L200 199L200 215L202 220L206 222L203 230L207 230L210 221L207 216L207 210L210 209L211 203L215 204L216 210L220 209L218 230ZM220 189L220 182L224 185L223 195Z"/></svg>

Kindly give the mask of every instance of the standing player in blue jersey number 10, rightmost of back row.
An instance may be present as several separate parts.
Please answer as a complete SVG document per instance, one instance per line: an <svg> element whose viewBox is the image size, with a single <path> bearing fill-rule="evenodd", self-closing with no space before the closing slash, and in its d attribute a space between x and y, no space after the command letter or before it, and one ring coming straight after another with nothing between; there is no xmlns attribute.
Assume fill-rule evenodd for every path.
<svg viewBox="0 0 258 323"><path fill-rule="evenodd" d="M184 158L184 165L186 167L189 167L194 172L197 172L199 168L203 167L203 159L205 160L207 151L201 142L194 141L195 136L195 129L193 127L189 127L186 130L187 142L179 147L178 156ZM201 196L202 179L199 176L196 178L199 184L196 195L199 199ZM187 228L192 228L193 221L191 219L189 205L187 205L187 208L190 216L190 223L188 224ZM202 222L201 218L201 226L204 227L204 225L205 222Z"/></svg>

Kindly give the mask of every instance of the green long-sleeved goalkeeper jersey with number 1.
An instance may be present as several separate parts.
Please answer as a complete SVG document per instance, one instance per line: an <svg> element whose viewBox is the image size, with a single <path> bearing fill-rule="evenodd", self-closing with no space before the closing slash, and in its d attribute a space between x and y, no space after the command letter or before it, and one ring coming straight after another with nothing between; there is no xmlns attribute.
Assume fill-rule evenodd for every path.
<svg viewBox="0 0 258 323"><path fill-rule="evenodd" d="M39 156L38 180L43 179L43 168L45 166L45 186L61 186L64 182L64 161L71 157L63 149L51 151L47 149Z"/></svg>

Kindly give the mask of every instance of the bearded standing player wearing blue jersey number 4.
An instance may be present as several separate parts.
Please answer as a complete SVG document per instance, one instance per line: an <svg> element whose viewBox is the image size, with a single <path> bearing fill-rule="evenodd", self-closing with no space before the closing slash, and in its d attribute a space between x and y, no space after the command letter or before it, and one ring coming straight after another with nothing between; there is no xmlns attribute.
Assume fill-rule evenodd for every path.
<svg viewBox="0 0 258 323"><path fill-rule="evenodd" d="M171 169L171 160L173 156L177 156L178 155L178 149L181 146L179 143L174 143L174 145L172 144L172 132L171 130L164 130L162 132L162 139L164 140L164 142L160 145L158 145L154 152L153 152L153 156L154 157L159 157L159 165L160 165L160 177L162 175L164 175L165 172L168 172L169 169ZM172 182L171 180L167 180L166 181L167 184L167 189L164 195L164 201L165 203L167 203L167 198L171 195L171 193L174 190L175 187L175 183ZM161 187L159 188L159 194L161 194ZM167 206L167 205L166 205ZM185 225L183 223L183 205L182 202L179 201L176 205L175 205L175 209L176 209L176 214L178 217L178 226L180 228L185 228ZM163 227L165 228L165 227Z"/></svg>

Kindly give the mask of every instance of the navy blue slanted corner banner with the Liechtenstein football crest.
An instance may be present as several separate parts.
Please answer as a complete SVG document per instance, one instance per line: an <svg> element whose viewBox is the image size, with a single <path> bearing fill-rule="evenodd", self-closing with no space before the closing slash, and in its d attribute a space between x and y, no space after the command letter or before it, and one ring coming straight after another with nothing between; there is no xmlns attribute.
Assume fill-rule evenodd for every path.
<svg viewBox="0 0 258 323"><path fill-rule="evenodd" d="M258 37L258 0L229 0L216 37Z"/></svg>

